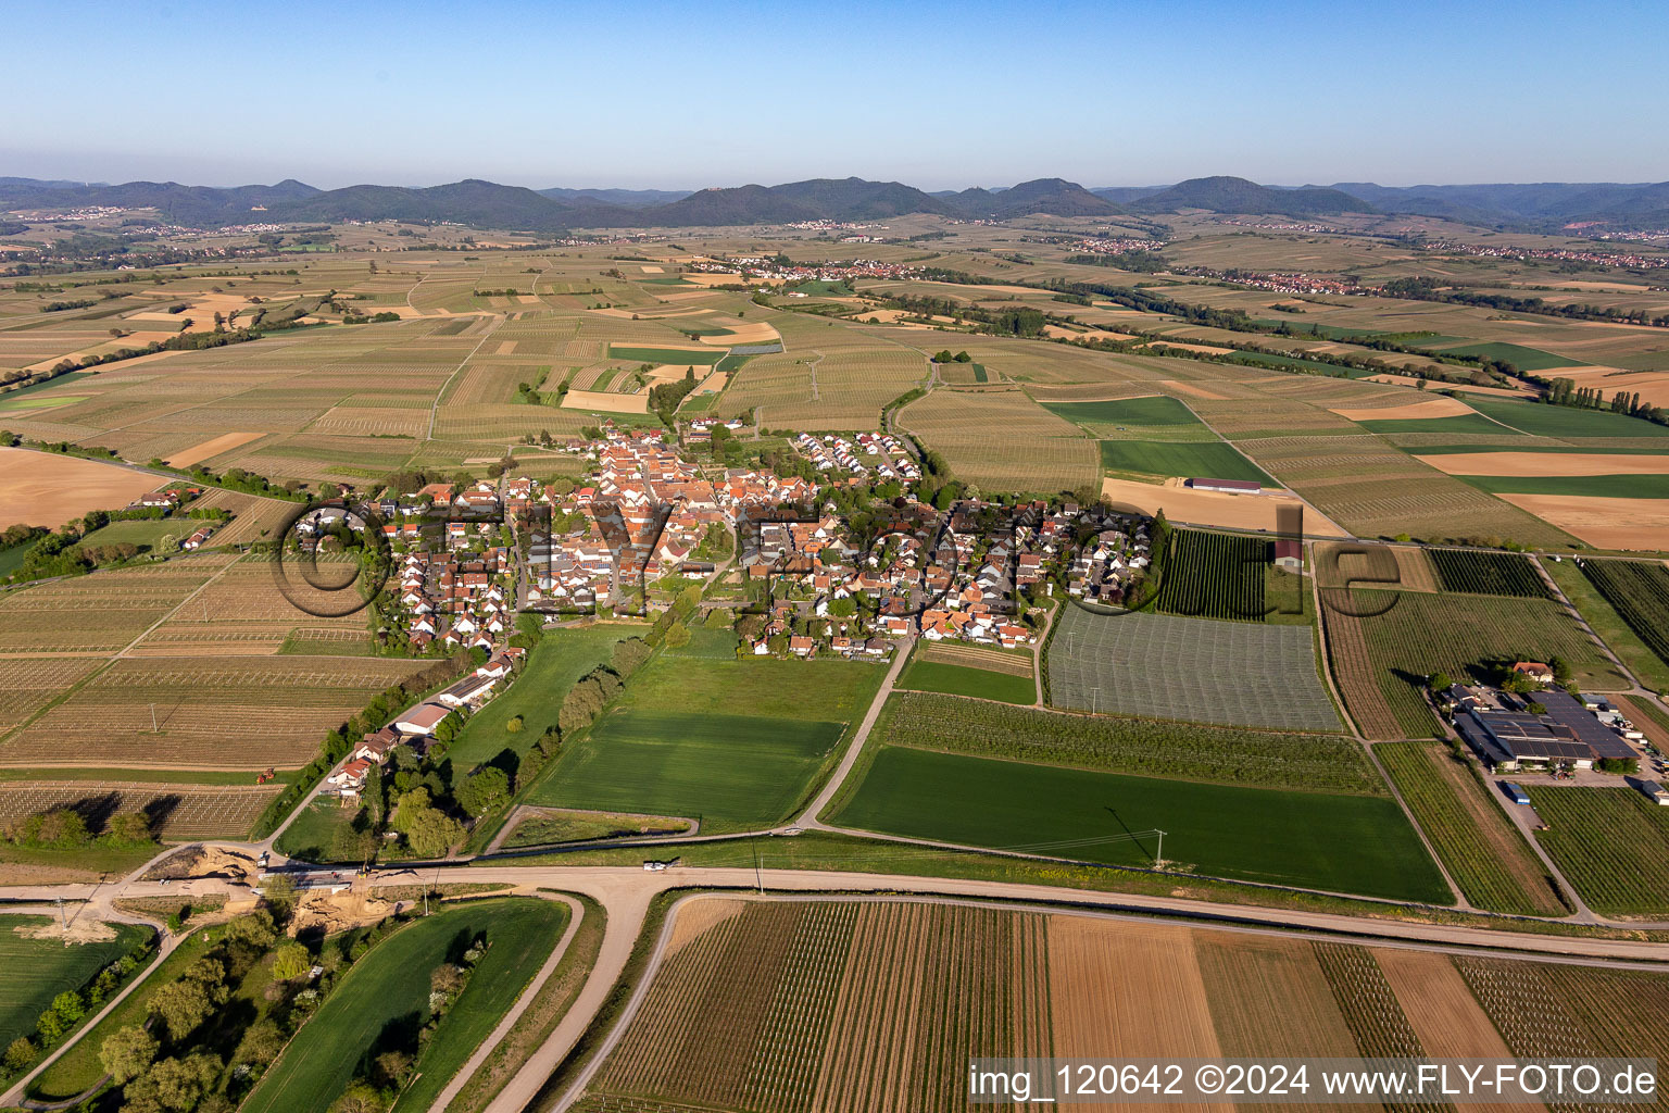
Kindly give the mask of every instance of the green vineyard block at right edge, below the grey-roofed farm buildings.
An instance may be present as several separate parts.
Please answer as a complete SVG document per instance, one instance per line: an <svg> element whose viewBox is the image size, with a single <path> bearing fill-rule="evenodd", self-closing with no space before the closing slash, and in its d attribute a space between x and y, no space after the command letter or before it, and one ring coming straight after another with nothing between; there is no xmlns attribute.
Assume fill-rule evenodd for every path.
<svg viewBox="0 0 1669 1113"><path fill-rule="evenodd" d="M1669 808L1617 788L1529 786L1547 824L1542 849L1587 906L1606 916L1669 913Z"/></svg>

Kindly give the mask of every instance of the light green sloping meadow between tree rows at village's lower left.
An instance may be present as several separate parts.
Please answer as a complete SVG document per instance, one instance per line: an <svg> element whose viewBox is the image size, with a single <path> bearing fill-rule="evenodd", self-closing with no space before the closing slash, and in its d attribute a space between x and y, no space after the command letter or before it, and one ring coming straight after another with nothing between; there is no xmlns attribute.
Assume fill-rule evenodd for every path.
<svg viewBox="0 0 1669 1113"><path fill-rule="evenodd" d="M547 728L556 726L562 696L581 676L606 664L614 642L648 632L648 626L626 622L599 622L576 629L546 631L539 644L527 654L527 664L509 691L471 716L452 741L452 766L461 771L492 761L504 749L517 754L539 739ZM522 729L509 733L504 724L522 718Z"/></svg>

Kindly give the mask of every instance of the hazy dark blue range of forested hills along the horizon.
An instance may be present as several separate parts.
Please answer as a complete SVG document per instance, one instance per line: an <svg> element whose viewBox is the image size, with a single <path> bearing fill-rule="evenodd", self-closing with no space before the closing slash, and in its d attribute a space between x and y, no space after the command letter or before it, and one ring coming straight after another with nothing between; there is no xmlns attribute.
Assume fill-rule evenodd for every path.
<svg viewBox="0 0 1669 1113"><path fill-rule="evenodd" d="M295 179L274 185L180 185L124 182L82 185L63 180L0 177L0 212L110 205L154 209L164 220L222 227L269 220L454 222L551 235L569 229L701 227L794 224L801 220L890 220L908 214L961 219L1026 215L1113 217L1205 209L1223 214L1292 217L1387 212L1444 217L1482 227L1557 232L1597 222L1621 230L1669 227L1669 182L1539 182L1484 185L1377 185L1340 182L1297 189L1258 185L1237 177L1190 179L1177 185L1087 190L1065 179L1035 179L1006 189L925 194L903 182L809 179L783 185L679 190L564 189L531 190L479 179L409 189L349 185L320 190ZM255 215L250 215L250 214Z"/></svg>

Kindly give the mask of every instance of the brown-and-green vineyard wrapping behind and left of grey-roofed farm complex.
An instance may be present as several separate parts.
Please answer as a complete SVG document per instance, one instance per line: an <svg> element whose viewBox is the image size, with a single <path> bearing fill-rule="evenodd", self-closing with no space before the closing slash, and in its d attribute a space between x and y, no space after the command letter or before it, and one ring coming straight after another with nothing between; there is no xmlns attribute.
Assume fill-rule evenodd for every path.
<svg viewBox="0 0 1669 1113"><path fill-rule="evenodd" d="M1552 599L1352 589L1322 607L1322 626L1345 706L1370 738L1432 734L1422 687L1434 672L1487 682L1514 661L1559 656L1586 691L1629 686Z"/></svg>

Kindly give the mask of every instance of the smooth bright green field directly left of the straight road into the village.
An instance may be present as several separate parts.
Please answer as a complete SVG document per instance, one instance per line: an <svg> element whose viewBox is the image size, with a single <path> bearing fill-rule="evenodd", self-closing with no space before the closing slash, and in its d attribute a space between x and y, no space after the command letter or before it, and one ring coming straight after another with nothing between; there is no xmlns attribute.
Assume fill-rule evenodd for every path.
<svg viewBox="0 0 1669 1113"><path fill-rule="evenodd" d="M845 729L766 716L613 711L564 748L527 803L689 816L703 834L766 828L788 818Z"/></svg>

